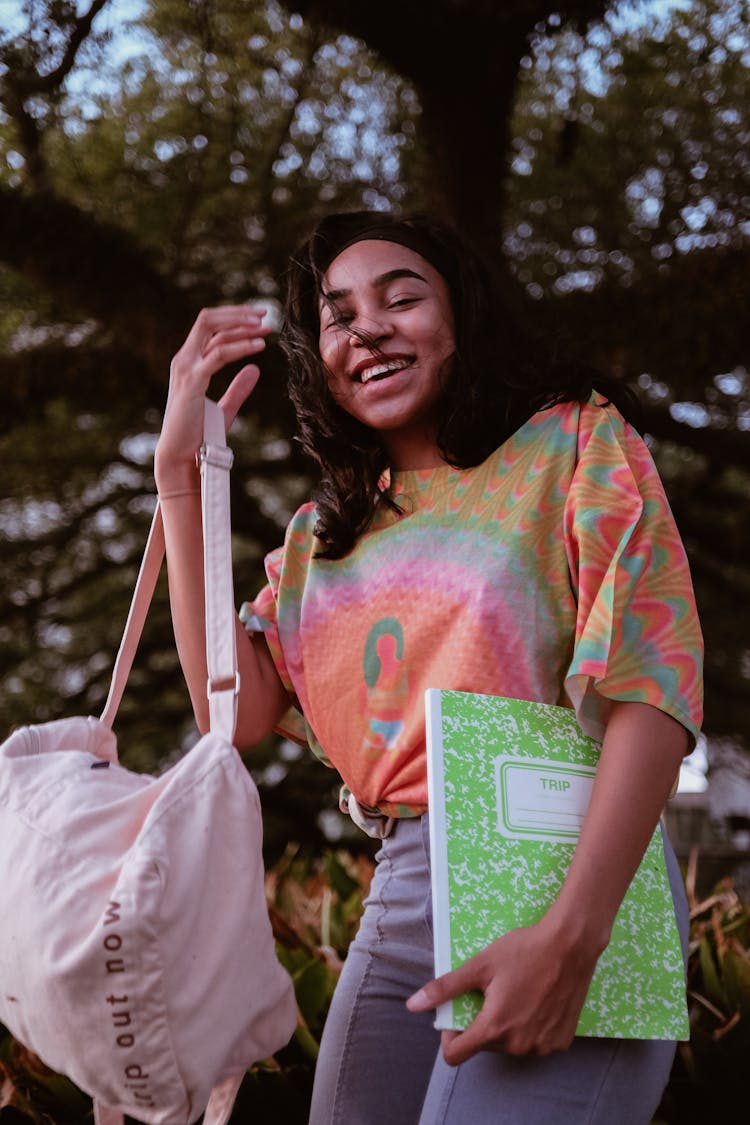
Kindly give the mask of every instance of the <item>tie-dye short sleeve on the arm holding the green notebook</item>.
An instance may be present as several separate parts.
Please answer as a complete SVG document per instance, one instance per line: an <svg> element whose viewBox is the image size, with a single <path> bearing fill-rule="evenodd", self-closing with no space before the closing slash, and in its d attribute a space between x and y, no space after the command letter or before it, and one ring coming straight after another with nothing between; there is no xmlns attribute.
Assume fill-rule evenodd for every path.
<svg viewBox="0 0 750 1125"><path fill-rule="evenodd" d="M695 739L703 718L703 639L693 584L651 454L613 406L582 407L564 507L577 601L566 691L600 738L609 701L649 703Z"/></svg>

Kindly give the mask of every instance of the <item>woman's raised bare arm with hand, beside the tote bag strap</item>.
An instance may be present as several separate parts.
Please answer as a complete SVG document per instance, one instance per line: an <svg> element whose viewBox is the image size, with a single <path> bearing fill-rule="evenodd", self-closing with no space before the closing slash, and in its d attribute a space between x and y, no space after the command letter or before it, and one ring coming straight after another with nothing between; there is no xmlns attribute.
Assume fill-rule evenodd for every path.
<svg viewBox="0 0 750 1125"><path fill-rule="evenodd" d="M251 305L204 309L172 361L154 471L159 489L174 638L199 730L208 729L206 622L200 514L200 475L196 452L202 441L204 398L211 377L226 363L257 354L269 328ZM227 428L259 377L254 364L232 380L220 405ZM235 742L244 749L260 741L289 705L261 636L250 638L237 620L240 700Z"/></svg>

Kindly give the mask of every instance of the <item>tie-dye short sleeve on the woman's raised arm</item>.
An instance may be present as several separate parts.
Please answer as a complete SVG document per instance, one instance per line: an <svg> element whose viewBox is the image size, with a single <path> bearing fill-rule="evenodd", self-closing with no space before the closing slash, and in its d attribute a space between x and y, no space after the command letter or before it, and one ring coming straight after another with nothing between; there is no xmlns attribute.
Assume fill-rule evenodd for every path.
<svg viewBox="0 0 750 1125"><path fill-rule="evenodd" d="M283 714L275 730L282 738L289 738L300 746L309 747L326 765L331 765L325 752L315 737L300 705L281 642L279 630L279 596L282 575L287 562L287 551L292 542L288 533L283 547L278 547L265 556L266 585L252 602L244 602L240 608L240 620L247 632L262 632L268 645L271 659L279 673L279 678L290 699L289 710Z"/></svg>

